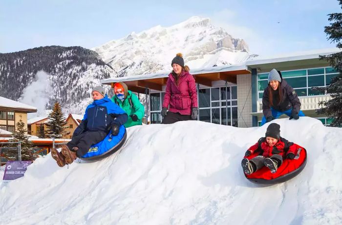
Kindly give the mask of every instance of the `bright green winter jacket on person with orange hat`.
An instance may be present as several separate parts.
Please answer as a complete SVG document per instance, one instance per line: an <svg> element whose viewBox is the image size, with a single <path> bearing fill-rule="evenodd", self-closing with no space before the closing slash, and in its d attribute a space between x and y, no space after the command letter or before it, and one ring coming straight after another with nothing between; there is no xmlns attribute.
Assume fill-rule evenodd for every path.
<svg viewBox="0 0 342 225"><path fill-rule="evenodd" d="M132 106L129 102L129 99L131 99ZM130 127L130 126L142 124L142 119L145 115L145 107L142 103L140 103L138 97L135 94L133 94L131 91L128 91L127 94L125 91L125 101L124 102L122 102L120 99L118 99L116 97L116 95L114 95L111 98L111 101L113 101L114 103L119 105L120 108L125 110L125 112L128 114L128 120L124 124L125 127ZM132 121L132 118L130 117L130 115L132 115L132 114L137 115L138 121Z"/></svg>

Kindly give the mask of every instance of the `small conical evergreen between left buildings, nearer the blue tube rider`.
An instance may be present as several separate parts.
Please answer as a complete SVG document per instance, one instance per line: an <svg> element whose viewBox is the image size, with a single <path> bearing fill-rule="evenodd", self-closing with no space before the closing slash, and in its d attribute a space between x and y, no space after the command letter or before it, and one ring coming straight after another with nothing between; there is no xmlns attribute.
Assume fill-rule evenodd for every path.
<svg viewBox="0 0 342 225"><path fill-rule="evenodd" d="M62 112L62 108L59 102L55 102L52 111L50 112L49 121L47 122L47 134L56 138L62 138L63 135L67 134L64 131L65 128L65 117Z"/></svg>

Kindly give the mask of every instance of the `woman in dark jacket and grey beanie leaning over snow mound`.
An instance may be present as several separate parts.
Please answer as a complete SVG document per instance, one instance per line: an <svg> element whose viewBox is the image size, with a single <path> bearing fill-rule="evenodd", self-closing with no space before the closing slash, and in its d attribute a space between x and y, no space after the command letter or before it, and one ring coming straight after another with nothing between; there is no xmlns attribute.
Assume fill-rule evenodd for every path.
<svg viewBox="0 0 342 225"><path fill-rule="evenodd" d="M300 111L300 102L296 91L284 80L279 72L272 69L268 75L268 86L262 96L262 117L261 125L277 119L282 114L290 117L290 120L298 120L305 116Z"/></svg>

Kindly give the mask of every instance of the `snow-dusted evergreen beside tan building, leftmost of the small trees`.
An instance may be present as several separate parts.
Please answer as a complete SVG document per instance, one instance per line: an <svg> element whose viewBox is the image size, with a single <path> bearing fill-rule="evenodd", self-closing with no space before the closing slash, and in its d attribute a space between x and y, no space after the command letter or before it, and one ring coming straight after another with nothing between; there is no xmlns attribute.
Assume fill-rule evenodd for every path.
<svg viewBox="0 0 342 225"><path fill-rule="evenodd" d="M25 123L22 122L20 115L20 120L16 124L16 130L13 134L13 139L10 140L10 142L21 142L21 160L23 161L32 161L35 160L37 157L33 153L33 144L31 141L28 140L28 136L26 135L27 129L25 128ZM17 147L18 144L13 144L11 147ZM14 154L14 155L13 155ZM18 155L17 150L11 151L11 156Z"/></svg>

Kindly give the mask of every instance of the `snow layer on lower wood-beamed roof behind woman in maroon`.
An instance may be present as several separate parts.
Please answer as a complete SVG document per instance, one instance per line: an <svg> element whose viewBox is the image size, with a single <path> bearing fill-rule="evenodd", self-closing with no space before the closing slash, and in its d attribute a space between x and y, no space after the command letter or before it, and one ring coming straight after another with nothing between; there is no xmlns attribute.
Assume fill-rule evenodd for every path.
<svg viewBox="0 0 342 225"><path fill-rule="evenodd" d="M244 62L238 63L235 65L224 65L224 66L212 66L212 67L205 67L205 68L198 68L192 69L190 73L192 75L196 74L206 74L206 73L218 73L218 72L227 72L227 71L235 71L235 70L247 70L247 66ZM139 81L145 79L154 79L154 78L165 78L168 77L171 70L165 70L158 73L153 74L141 74L141 75L134 75L128 77L118 77L118 78L108 78L101 80L101 83L109 84L112 82L127 82L127 81Z"/></svg>

